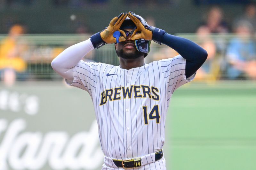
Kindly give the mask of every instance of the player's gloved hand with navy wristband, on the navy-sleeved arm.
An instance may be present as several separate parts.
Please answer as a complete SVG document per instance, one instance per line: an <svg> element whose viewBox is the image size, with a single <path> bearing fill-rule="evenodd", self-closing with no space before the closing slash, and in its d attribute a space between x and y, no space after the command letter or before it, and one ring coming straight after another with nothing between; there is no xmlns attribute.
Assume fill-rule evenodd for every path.
<svg viewBox="0 0 256 170"><path fill-rule="evenodd" d="M132 31L132 40L154 40L158 44L161 44L162 37L165 33L164 30L154 26L149 26L144 18L131 11L128 12L128 17L131 18L134 24L137 26L137 28Z"/></svg>

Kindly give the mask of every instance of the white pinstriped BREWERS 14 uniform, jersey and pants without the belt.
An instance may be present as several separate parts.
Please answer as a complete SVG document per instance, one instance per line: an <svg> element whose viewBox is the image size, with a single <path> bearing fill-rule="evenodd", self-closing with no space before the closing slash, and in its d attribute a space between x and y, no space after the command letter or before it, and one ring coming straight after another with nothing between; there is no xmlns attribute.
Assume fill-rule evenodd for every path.
<svg viewBox="0 0 256 170"><path fill-rule="evenodd" d="M186 79L185 65L186 59L178 55L130 70L82 60L73 67L72 85L91 95L106 157L129 159L162 149L172 93L195 77ZM106 158L104 161L114 164ZM104 169L111 169L106 165ZM145 167L164 169L165 160Z"/></svg>

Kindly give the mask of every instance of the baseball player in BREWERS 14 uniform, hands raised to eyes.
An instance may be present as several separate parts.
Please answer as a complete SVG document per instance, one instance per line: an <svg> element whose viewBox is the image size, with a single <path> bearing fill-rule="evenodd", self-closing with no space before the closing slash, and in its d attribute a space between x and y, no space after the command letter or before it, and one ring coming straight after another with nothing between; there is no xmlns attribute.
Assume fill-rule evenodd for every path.
<svg viewBox="0 0 256 170"><path fill-rule="evenodd" d="M150 41L180 55L144 63ZM94 48L115 43L120 65L84 62ZM133 12L113 18L103 31L75 44L52 61L67 84L87 91L95 109L102 169L164 170L165 119L173 92L192 81L207 52L187 39L149 26Z"/></svg>

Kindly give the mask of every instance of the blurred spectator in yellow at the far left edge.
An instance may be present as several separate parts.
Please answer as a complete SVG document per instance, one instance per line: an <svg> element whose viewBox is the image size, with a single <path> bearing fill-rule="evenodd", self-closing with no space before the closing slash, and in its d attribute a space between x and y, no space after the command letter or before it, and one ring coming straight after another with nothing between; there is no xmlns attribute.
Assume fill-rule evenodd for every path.
<svg viewBox="0 0 256 170"><path fill-rule="evenodd" d="M12 85L16 80L16 72L26 70L26 63L20 57L24 46L18 41L24 28L20 25L11 27L8 36L0 44L1 79L6 85Z"/></svg>

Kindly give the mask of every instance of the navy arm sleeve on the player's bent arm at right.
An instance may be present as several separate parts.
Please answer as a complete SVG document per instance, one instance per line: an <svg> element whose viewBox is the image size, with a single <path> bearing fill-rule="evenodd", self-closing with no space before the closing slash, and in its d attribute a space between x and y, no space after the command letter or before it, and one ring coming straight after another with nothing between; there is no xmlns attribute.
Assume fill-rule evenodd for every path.
<svg viewBox="0 0 256 170"><path fill-rule="evenodd" d="M164 33L162 43L173 48L186 59L186 78L192 76L207 58L207 52L196 43L168 33Z"/></svg>

